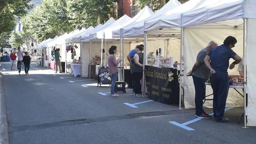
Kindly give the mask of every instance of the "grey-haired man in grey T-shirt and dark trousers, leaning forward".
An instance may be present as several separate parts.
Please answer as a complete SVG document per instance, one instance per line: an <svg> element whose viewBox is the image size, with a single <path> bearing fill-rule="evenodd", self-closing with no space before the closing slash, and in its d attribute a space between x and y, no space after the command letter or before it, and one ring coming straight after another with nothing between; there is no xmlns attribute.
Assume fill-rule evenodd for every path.
<svg viewBox="0 0 256 144"><path fill-rule="evenodd" d="M205 98L205 80L209 77L209 70L205 66L205 56L210 52L213 47L218 44L210 41L207 47L203 48L197 55L196 62L187 76L193 77L195 86L195 116L198 118L211 118L210 115L203 110L203 99Z"/></svg>

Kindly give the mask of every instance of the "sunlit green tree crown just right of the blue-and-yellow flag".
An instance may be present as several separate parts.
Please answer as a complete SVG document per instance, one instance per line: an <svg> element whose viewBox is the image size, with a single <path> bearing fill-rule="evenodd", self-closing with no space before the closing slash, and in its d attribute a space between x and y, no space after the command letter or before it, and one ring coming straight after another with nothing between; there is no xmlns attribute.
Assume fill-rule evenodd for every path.
<svg viewBox="0 0 256 144"><path fill-rule="evenodd" d="M72 31L66 8L66 0L44 0L22 18L23 30L39 42Z"/></svg>

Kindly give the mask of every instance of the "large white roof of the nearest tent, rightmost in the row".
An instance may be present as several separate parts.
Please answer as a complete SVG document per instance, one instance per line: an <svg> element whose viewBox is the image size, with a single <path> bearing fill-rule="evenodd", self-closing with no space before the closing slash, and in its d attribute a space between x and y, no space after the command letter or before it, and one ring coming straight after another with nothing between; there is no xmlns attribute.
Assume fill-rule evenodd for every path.
<svg viewBox="0 0 256 144"><path fill-rule="evenodd" d="M182 26L193 26L241 18L256 18L256 0L211 0L182 14ZM240 20L240 23L243 23ZM228 24L228 21L227 21ZM235 26L236 24L232 24Z"/></svg>

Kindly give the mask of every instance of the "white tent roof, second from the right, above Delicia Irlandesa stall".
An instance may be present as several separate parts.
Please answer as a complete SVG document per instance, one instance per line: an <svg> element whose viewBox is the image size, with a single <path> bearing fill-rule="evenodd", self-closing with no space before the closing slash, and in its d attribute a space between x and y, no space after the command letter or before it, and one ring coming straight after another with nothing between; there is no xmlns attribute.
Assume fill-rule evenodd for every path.
<svg viewBox="0 0 256 144"><path fill-rule="evenodd" d="M146 20L144 22L144 31L152 31L163 28L180 28L182 13L197 8L205 1L211 0L190 0L174 9L169 10L163 15L159 15L159 17Z"/></svg>

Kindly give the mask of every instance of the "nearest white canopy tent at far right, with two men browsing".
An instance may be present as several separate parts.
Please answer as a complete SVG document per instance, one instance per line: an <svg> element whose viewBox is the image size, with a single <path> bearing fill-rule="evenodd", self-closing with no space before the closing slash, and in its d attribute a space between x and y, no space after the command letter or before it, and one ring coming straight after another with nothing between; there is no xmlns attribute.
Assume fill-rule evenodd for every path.
<svg viewBox="0 0 256 144"><path fill-rule="evenodd" d="M228 35L237 38L238 42L233 50L238 55L243 55L244 77L247 77L247 81L244 79L244 96L248 93L248 106L245 107L246 98L238 98L232 90L229 90L227 106L241 106L243 102L244 112L248 120L247 123L246 115L244 115L244 127L246 125L256 126L256 97L254 94L256 86L254 66L256 54L255 7L256 0L211 0L206 1L198 9L182 14L182 26L185 27L185 73L192 68L195 53L203 48L207 41L215 40L220 45ZM238 73L237 68L228 70L228 72L229 74ZM190 77L185 77L184 83L186 91L184 96L185 107L193 107L193 102L191 103L194 96L193 82L191 82Z"/></svg>

